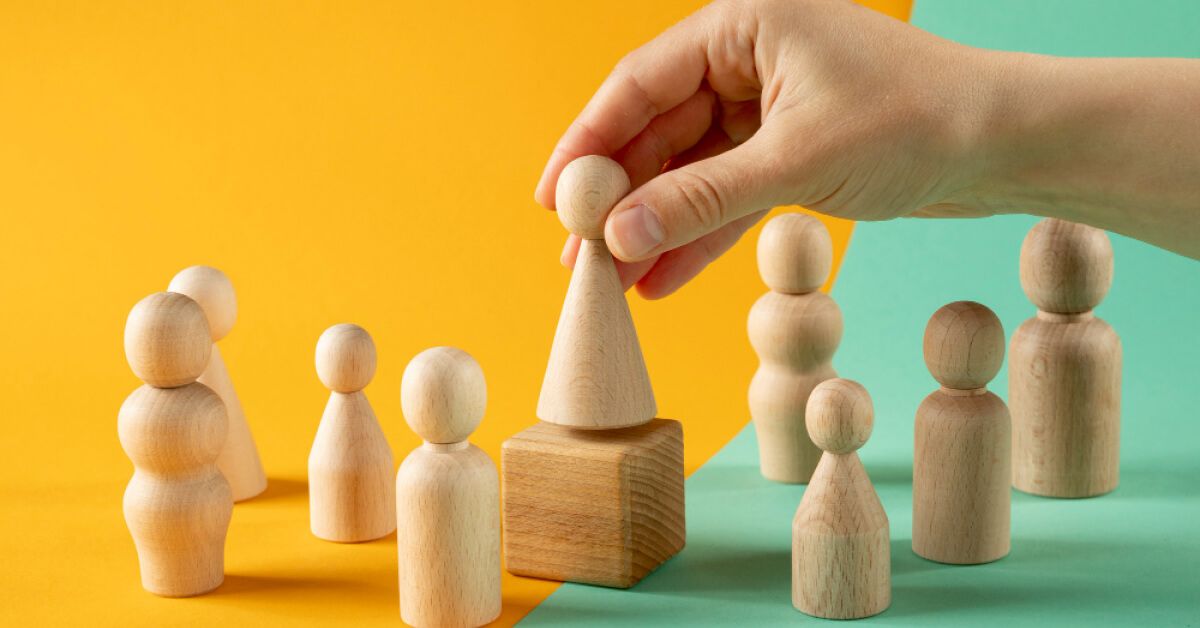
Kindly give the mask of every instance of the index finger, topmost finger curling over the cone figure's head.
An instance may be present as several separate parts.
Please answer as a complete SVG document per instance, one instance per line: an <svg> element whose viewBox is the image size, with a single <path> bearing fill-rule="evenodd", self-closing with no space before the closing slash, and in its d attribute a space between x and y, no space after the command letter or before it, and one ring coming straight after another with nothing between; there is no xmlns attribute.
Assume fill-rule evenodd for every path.
<svg viewBox="0 0 1200 628"><path fill-rule="evenodd" d="M611 156L700 89L708 71L704 30L692 14L617 64L554 146L534 192L538 203L554 209L554 186L568 163Z"/></svg>

